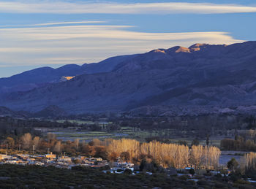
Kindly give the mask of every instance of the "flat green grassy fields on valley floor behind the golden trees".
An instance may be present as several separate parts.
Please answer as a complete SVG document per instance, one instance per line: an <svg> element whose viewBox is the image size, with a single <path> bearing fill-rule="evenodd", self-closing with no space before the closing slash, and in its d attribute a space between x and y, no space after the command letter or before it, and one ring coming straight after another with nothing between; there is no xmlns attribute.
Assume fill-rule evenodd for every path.
<svg viewBox="0 0 256 189"><path fill-rule="evenodd" d="M91 121L91 120L50 120L56 121L58 123L64 123L68 121L69 123L77 123L78 125L87 124L93 125L98 124L99 126L108 126L110 122L105 122L104 120L98 121ZM102 127L104 128L104 127ZM140 131L138 128L132 127L121 127L120 131L61 131L61 132L53 132L59 139L63 140L74 140L74 139L81 139L81 140L92 140L95 138L131 138L137 139L140 142L145 142L146 138L158 136L159 138L167 139L169 142L178 143L178 141L186 141L187 144L191 144L195 137L181 137L175 136L175 130L170 129L162 129L162 130L153 130L153 131ZM220 147L220 141L222 138L218 138L217 136L211 136L209 139L210 144ZM206 144L206 139L199 139L200 144Z"/></svg>

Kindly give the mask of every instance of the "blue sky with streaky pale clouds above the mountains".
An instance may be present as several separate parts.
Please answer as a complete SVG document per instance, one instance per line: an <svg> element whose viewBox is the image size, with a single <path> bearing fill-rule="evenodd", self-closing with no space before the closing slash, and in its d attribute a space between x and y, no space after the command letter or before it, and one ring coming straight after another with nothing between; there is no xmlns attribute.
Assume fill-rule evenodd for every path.
<svg viewBox="0 0 256 189"><path fill-rule="evenodd" d="M255 0L0 0L0 77L195 43L253 41Z"/></svg>

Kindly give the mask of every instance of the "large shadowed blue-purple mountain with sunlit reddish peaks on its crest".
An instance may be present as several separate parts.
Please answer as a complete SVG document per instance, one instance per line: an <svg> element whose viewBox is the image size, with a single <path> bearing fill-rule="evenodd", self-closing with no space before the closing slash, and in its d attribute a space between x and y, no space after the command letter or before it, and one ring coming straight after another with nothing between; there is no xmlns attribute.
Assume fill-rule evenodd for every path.
<svg viewBox="0 0 256 189"><path fill-rule="evenodd" d="M72 80L5 93L0 105L31 112L56 105L77 114L141 107L211 112L256 103L256 42L172 47L71 67L59 76L76 76Z"/></svg>

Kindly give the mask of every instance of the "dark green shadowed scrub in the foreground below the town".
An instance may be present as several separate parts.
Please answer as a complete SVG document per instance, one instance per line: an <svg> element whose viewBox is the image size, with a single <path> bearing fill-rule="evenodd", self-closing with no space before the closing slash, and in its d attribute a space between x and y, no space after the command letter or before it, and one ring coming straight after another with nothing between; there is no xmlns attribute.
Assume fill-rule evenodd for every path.
<svg viewBox="0 0 256 189"><path fill-rule="evenodd" d="M0 188L255 188L250 182L230 180L220 175L206 180L198 176L167 174L105 174L99 169L74 167L58 169L42 166L0 165Z"/></svg>

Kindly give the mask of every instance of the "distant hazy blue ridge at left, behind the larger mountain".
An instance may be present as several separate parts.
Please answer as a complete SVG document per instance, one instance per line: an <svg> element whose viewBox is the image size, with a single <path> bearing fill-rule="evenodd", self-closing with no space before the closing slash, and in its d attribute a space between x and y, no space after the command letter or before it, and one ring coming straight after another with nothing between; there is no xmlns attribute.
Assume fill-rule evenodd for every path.
<svg viewBox="0 0 256 189"><path fill-rule="evenodd" d="M64 81L63 77L111 72L118 63L135 56L136 55L121 55L108 58L99 63L85 63L82 66L67 64L57 69L50 67L32 69L12 77L0 78L0 93L27 91L33 88L39 88L49 83Z"/></svg>

